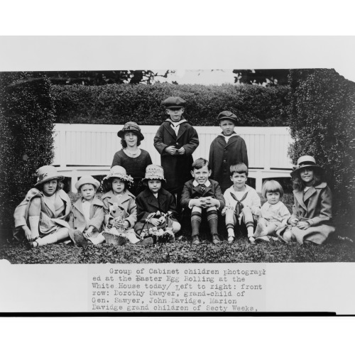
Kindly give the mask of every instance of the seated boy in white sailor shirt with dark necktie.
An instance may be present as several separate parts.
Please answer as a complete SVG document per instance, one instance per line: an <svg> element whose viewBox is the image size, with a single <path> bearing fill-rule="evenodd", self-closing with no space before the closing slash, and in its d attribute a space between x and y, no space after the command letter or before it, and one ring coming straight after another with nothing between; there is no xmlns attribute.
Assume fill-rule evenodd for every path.
<svg viewBox="0 0 355 355"><path fill-rule="evenodd" d="M224 192L226 207L222 214L226 214L226 229L228 231L228 242L234 241L234 226L236 221L244 222L248 231L248 238L251 244L255 244L254 221L260 214L261 201L258 193L253 187L246 185L248 168L244 163L231 165L229 168L233 185Z"/></svg>

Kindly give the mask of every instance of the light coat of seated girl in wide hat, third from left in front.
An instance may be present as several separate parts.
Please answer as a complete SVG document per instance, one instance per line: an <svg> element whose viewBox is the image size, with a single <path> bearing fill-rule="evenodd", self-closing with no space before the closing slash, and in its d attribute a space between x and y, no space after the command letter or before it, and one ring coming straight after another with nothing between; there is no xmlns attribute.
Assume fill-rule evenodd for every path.
<svg viewBox="0 0 355 355"><path fill-rule="evenodd" d="M114 195L114 192L110 190L106 194L102 195L102 203L104 204L104 224L107 224L110 219L119 217L119 209L124 210L124 220L129 222L129 228L133 228L137 221L137 205L134 195L126 190L120 199ZM115 212L109 212L109 207L114 203L118 204L119 209Z"/></svg>

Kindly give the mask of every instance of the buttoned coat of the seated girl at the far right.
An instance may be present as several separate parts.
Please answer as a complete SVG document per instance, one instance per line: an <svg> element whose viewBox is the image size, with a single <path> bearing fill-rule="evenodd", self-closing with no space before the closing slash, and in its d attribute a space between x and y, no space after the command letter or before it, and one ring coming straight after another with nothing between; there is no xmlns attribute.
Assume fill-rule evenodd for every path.
<svg viewBox="0 0 355 355"><path fill-rule="evenodd" d="M332 191L326 182L311 186L306 192L293 190L294 204L291 218L307 221L310 228L302 230L293 226L291 234L303 244L303 241L312 241L322 244L329 234L334 232L332 226Z"/></svg>

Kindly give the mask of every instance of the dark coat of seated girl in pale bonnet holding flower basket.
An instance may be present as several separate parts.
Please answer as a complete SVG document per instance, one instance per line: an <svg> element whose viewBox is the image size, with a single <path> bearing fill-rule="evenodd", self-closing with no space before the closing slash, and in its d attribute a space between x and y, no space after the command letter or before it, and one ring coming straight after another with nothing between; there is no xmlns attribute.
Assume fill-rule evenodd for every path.
<svg viewBox="0 0 355 355"><path fill-rule="evenodd" d="M134 231L139 233L143 229L144 224L146 224L146 218L149 214L153 212L163 212L168 211L173 212L173 221L176 214L176 204L173 195L170 194L167 190L160 189L158 192L158 198L155 198L153 192L146 188L136 197L137 204L137 220L138 222L134 226ZM152 225L150 225L152 226Z"/></svg>

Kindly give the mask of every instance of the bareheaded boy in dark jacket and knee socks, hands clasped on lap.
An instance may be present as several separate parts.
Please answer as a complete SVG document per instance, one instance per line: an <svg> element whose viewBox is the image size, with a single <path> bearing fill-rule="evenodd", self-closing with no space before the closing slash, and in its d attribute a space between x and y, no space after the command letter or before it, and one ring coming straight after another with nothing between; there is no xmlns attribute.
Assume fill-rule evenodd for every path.
<svg viewBox="0 0 355 355"><path fill-rule="evenodd" d="M219 183L209 180L208 160L199 158L192 163L191 174L194 179L187 181L182 190L181 205L188 207L191 211L192 244L200 244L200 224L202 222L202 211L206 212L207 222L212 234L214 244L221 243L219 239L217 224L217 210L224 208L224 198Z"/></svg>

